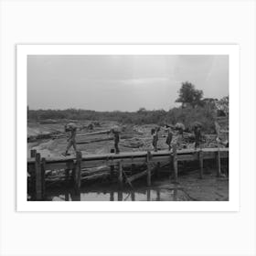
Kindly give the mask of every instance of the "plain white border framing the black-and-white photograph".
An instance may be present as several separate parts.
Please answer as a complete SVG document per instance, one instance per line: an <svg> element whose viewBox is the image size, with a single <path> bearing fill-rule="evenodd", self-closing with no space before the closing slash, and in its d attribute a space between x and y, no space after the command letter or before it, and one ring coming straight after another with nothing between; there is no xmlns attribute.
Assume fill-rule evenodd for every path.
<svg viewBox="0 0 256 256"><path fill-rule="evenodd" d="M229 55L229 201L27 201L27 55ZM238 45L17 45L17 211L239 211L240 59Z"/></svg>

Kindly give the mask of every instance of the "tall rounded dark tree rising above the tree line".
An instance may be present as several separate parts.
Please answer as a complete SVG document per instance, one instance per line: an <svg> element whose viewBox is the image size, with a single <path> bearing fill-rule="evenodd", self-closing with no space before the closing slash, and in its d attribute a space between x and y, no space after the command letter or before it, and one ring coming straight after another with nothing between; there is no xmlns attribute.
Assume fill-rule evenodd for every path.
<svg viewBox="0 0 256 256"><path fill-rule="evenodd" d="M203 91L197 90L194 84L188 81L183 82L178 93L179 95L176 102L181 102L182 107L184 107L186 103L189 103L193 108L197 105L202 105L201 99L203 97Z"/></svg>

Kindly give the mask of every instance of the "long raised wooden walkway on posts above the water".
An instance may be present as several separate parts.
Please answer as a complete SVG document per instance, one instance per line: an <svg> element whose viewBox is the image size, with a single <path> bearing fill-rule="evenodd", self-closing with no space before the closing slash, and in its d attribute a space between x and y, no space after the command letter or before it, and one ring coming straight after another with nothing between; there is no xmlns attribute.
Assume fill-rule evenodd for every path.
<svg viewBox="0 0 256 256"><path fill-rule="evenodd" d="M170 175L174 176L172 182L177 182L178 162L198 161L199 176L203 178L204 160L214 159L217 165L217 176L220 176L220 159L229 158L229 148L203 148L203 149L182 149L176 150L174 145L172 152L161 150L158 152L123 152L116 154L85 155L77 152L76 156L59 156L54 158L41 158L35 150L31 151L30 158L27 159L28 173L35 173L36 198L41 200L45 194L45 172L46 170L72 170L74 187L80 190L80 174L82 168L106 165L113 170L117 170L117 178L120 186L123 186L123 167L131 165L145 165L146 168L139 174L126 177L126 183L132 183L140 176L146 176L147 185L151 185L151 175L153 166L169 164Z"/></svg>

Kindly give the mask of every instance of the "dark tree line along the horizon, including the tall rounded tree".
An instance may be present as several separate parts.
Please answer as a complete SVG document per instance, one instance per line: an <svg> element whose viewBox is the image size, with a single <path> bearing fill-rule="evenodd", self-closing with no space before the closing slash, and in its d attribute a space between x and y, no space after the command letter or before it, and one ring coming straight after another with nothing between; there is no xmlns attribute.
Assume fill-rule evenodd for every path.
<svg viewBox="0 0 256 256"><path fill-rule="evenodd" d="M42 120L91 120L91 121L115 121L119 123L158 125L184 123L187 129L191 129L193 122L198 121L204 125L208 132L214 132L214 120L217 115L227 115L229 109L229 97L217 100L212 98L203 99L203 91L197 90L190 82L184 82L178 91L176 102L181 106L165 110L149 111L144 108L137 112L96 112L91 110L67 109L67 110L29 110L27 109L28 121ZM224 102L224 103L223 103ZM223 110L221 109L221 106ZM216 109L216 106L220 106Z"/></svg>

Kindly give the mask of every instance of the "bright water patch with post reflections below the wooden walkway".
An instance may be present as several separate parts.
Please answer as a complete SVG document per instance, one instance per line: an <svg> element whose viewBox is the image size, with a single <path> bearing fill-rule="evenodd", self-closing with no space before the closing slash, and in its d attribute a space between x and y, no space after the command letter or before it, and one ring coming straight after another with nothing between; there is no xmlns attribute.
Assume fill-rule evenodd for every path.
<svg viewBox="0 0 256 256"><path fill-rule="evenodd" d="M132 191L83 191L79 194L73 190L51 192L47 200L57 201L183 201L190 200L178 187L147 188Z"/></svg>

